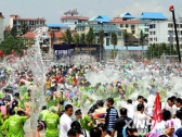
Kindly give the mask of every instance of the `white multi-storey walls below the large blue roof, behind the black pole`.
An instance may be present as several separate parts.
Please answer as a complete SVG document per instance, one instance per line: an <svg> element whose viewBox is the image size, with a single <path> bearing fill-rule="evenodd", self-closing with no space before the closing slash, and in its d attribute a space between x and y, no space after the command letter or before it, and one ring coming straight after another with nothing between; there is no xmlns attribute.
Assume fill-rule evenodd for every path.
<svg viewBox="0 0 182 137"><path fill-rule="evenodd" d="M182 20L177 22L177 30L179 37L179 43L182 45ZM148 42L150 43L168 43L176 45L176 33L172 21L166 22L153 22L150 24L148 29Z"/></svg>

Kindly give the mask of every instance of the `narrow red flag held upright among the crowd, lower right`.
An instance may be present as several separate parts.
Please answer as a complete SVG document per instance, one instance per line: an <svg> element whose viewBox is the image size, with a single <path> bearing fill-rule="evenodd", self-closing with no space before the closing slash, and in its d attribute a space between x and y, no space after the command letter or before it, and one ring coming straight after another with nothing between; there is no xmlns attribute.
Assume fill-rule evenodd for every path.
<svg viewBox="0 0 182 137"><path fill-rule="evenodd" d="M153 115L153 121L152 121L152 129L157 123L161 122L162 120L159 92L156 92L156 98L155 98L154 103L155 104L154 104L154 115Z"/></svg>

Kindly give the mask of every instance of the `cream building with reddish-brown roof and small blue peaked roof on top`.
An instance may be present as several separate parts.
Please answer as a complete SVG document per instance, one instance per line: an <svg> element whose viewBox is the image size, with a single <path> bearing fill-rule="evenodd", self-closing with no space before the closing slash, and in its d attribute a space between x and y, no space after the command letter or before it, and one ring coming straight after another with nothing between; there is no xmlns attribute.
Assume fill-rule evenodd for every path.
<svg viewBox="0 0 182 137"><path fill-rule="evenodd" d="M140 22L130 13L123 13L117 17L114 17L110 20L110 24L116 25L121 30L127 30L127 33L132 34L135 38L139 38Z"/></svg>

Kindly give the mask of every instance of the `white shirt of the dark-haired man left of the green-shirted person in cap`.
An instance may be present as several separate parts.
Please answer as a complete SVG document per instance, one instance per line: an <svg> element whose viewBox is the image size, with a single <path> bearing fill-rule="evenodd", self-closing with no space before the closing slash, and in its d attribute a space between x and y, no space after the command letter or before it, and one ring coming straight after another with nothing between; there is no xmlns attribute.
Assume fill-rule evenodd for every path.
<svg viewBox="0 0 182 137"><path fill-rule="evenodd" d="M64 113L60 119L60 137L67 137L67 133L70 129L72 119Z"/></svg>

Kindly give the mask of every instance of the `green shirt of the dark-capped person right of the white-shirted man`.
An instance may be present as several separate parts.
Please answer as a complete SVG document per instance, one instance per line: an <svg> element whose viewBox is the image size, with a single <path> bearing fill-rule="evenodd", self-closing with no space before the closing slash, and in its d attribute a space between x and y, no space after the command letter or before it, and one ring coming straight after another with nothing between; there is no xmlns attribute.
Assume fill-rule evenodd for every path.
<svg viewBox="0 0 182 137"><path fill-rule="evenodd" d="M87 132L90 132L93 128L93 125L88 126L88 124L92 122L91 117L89 117L89 115L83 115L82 117L83 119L80 121L82 128L84 128Z"/></svg>

